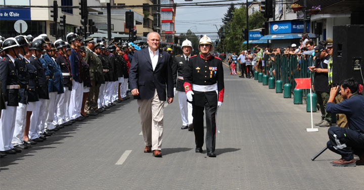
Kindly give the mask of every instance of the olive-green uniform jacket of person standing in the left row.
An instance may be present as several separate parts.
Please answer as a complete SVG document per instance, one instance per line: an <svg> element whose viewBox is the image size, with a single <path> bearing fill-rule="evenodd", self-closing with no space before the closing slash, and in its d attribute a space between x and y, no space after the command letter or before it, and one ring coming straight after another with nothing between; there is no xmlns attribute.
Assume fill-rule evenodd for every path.
<svg viewBox="0 0 364 190"><path fill-rule="evenodd" d="M96 80L101 84L105 83L101 59L86 48L86 57L83 60L89 65L90 80Z"/></svg>

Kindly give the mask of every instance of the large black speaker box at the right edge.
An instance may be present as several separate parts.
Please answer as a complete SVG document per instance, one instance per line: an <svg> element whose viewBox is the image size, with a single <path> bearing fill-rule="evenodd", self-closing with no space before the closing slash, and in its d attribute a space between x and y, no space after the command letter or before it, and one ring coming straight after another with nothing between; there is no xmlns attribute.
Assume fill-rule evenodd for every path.
<svg viewBox="0 0 364 190"><path fill-rule="evenodd" d="M364 25L333 27L333 83L354 77L363 84Z"/></svg>

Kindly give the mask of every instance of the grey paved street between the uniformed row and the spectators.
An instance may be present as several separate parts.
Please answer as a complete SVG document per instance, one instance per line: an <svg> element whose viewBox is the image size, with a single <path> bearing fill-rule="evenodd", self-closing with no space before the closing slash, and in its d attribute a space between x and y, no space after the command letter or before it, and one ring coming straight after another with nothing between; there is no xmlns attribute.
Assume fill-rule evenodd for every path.
<svg viewBox="0 0 364 190"><path fill-rule="evenodd" d="M2 158L0 188L362 189L364 166L333 167L340 156L329 150L310 160L328 135L327 128L306 132L306 105L224 69L216 158L205 147L195 153L194 133L180 129L177 98L164 110L163 158L144 153L138 106L129 99Z"/></svg>

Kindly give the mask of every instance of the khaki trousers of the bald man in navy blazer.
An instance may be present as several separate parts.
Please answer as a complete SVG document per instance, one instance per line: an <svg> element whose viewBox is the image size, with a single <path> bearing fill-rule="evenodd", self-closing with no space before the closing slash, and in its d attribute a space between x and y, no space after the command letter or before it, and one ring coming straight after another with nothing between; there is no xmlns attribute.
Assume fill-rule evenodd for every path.
<svg viewBox="0 0 364 190"><path fill-rule="evenodd" d="M162 149L164 101L158 98L157 90L149 100L138 100L142 132L147 147L152 151Z"/></svg>

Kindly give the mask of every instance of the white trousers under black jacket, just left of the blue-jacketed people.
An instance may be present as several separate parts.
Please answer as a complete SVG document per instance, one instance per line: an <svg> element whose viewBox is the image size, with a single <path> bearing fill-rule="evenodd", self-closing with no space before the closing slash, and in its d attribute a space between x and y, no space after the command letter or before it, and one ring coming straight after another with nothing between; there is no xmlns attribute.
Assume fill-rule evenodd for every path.
<svg viewBox="0 0 364 190"><path fill-rule="evenodd" d="M30 127L29 127L29 136L30 139L38 138L39 135L39 126L41 117L44 116L44 110L45 110L45 100L39 99L38 102L35 103L36 109L33 111L31 117L30 117Z"/></svg>

